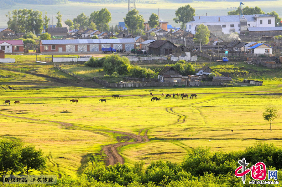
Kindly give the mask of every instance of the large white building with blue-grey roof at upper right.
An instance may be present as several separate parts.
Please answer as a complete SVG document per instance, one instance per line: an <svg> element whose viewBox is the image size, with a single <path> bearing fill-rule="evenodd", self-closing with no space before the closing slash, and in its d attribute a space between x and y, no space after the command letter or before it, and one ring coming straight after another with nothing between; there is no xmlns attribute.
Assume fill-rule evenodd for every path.
<svg viewBox="0 0 282 187"><path fill-rule="evenodd" d="M275 16L267 14L244 15L247 19L248 27L275 27ZM240 33L240 17L235 16L193 16L193 20L186 23L186 31L196 33L196 26L201 25L221 25L224 34L234 32Z"/></svg>

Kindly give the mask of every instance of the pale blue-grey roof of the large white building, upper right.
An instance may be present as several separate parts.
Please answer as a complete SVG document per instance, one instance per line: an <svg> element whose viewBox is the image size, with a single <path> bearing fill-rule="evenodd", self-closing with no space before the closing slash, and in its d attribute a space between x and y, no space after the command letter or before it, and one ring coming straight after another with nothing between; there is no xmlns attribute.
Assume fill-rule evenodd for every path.
<svg viewBox="0 0 282 187"><path fill-rule="evenodd" d="M257 16L260 16L262 14L257 14ZM193 16L193 20L188 23L224 23L224 22L239 22L239 16L240 15L232 15L232 16ZM247 19L248 22L254 22L254 16L255 15L244 15L244 17ZM271 15L268 15L269 17L272 17ZM199 19L200 17L200 19ZM218 21L218 18L220 18L220 21Z"/></svg>

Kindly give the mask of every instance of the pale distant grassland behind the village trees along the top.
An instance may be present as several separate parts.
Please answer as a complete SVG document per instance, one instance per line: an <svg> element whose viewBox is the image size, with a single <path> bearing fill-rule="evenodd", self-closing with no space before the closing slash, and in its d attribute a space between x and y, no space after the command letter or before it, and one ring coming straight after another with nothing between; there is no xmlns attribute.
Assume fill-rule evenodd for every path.
<svg viewBox="0 0 282 187"><path fill-rule="evenodd" d="M172 3L170 1L164 0L156 0L156 4L144 4L144 3L136 3L136 9L139 10L140 14L143 15L146 21L148 21L151 13L158 13L158 8L160 9L160 20L164 20L172 24L172 26L180 27L180 23L174 23L172 18L175 17L175 10L181 6L184 6L188 3ZM200 15L227 15L227 12L233 10L233 7L239 7L239 1L195 1L193 3L189 3L191 7L195 8L196 16ZM249 7L260 7L265 13L276 11L279 16L282 16L281 11L281 0L269 0L267 3L265 1L251 1L245 2L244 6ZM63 14L63 21L66 19L73 19L80 13L84 12L87 16L89 16L92 12L100 10L102 8L107 8L112 14L112 22L110 25L116 25L118 22L123 22L123 18L128 12L128 4L127 3L112 3L112 4L100 4L100 3L74 3L68 2L67 4L59 4L59 5L31 5L31 4L16 4L13 5L10 9L1 9L0 11L0 28L4 28L7 26L8 18L5 17L5 14L8 11L12 11L13 9L24 9L31 8L33 10L39 10L43 13L47 11L48 16L52 20L55 25L57 20L55 18L56 13L58 11ZM53 17L53 19L52 19ZM64 24L63 24L64 25ZM66 25L65 25L66 26Z"/></svg>

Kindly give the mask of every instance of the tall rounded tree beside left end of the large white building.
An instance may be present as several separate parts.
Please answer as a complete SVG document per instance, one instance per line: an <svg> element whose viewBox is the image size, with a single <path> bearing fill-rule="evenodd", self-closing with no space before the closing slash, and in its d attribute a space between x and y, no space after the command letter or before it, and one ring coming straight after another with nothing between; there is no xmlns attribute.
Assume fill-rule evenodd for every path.
<svg viewBox="0 0 282 187"><path fill-rule="evenodd" d="M185 5L184 7L179 7L175 11L176 18L173 18L175 23L182 23L181 28L185 29L185 24L190 22L195 16L195 9L192 8L189 4Z"/></svg>

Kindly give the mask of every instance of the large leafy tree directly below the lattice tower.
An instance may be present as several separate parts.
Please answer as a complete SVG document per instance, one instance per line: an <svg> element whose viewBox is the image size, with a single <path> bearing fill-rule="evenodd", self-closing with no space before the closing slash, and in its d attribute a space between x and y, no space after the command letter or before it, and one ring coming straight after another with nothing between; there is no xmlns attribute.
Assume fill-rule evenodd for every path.
<svg viewBox="0 0 282 187"><path fill-rule="evenodd" d="M136 31L144 28L145 20L142 15L139 15L139 11L136 9L129 11L123 19L129 30Z"/></svg>

